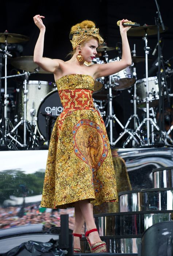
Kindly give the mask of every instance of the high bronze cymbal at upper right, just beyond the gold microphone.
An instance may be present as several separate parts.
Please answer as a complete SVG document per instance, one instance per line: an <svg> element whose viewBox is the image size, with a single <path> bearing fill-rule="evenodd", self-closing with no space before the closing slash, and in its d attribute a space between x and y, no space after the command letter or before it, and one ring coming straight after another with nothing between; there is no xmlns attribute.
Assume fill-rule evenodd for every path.
<svg viewBox="0 0 173 256"><path fill-rule="evenodd" d="M168 27L165 27L165 30L168 30ZM159 27L160 33L164 32L162 26ZM128 36L145 36L147 35L156 35L157 34L157 25L145 25L141 27L132 27L127 31Z"/></svg>

